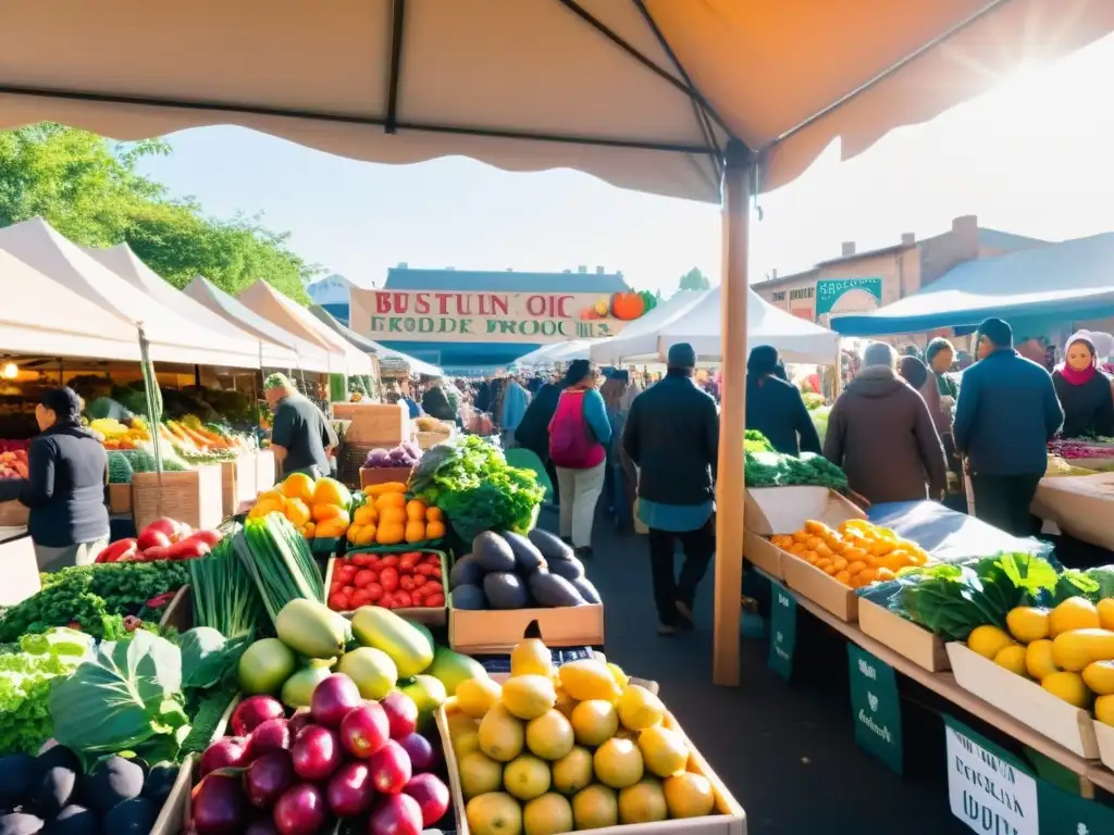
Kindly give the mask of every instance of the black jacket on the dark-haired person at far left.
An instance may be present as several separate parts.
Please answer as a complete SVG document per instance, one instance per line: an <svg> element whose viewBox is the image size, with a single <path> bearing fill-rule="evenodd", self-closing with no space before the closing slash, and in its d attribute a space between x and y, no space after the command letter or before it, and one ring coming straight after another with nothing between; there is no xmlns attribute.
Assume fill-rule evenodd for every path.
<svg viewBox="0 0 1114 835"><path fill-rule="evenodd" d="M108 538L108 453L81 426L56 424L31 441L19 500L36 544L68 548Z"/></svg>

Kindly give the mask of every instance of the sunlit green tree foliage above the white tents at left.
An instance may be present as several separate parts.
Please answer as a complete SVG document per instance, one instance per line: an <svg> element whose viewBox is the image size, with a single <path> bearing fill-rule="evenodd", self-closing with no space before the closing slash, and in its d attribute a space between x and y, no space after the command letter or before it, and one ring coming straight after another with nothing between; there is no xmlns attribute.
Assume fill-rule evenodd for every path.
<svg viewBox="0 0 1114 835"><path fill-rule="evenodd" d="M201 274L235 295L264 278L306 303L320 268L290 250L289 233L258 215L209 217L139 174L140 159L170 153L162 139L117 145L49 122L0 131L0 226L41 215L80 246L127 243L176 287Z"/></svg>

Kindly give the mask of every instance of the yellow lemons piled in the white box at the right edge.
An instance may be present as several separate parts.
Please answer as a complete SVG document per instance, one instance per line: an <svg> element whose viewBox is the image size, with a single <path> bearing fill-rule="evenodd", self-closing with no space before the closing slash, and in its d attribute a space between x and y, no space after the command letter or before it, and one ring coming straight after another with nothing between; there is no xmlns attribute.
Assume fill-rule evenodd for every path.
<svg viewBox="0 0 1114 835"><path fill-rule="evenodd" d="M1114 726L1114 599L1019 606L1007 613L1006 629L971 630L967 648Z"/></svg>

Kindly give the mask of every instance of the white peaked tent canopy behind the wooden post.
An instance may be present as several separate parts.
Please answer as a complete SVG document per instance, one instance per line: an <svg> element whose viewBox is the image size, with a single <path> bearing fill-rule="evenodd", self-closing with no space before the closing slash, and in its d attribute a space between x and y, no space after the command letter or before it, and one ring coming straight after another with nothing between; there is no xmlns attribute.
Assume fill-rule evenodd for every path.
<svg viewBox="0 0 1114 835"><path fill-rule="evenodd" d="M820 325L799 318L763 299L753 289L747 291L746 350L756 345L773 345L782 360L790 363L831 365L839 353L839 335ZM624 360L664 362L670 348L687 342L702 362L722 361L722 328L720 287L706 291L695 304L678 311L657 328L656 336L646 334L634 346L643 353ZM656 344L653 344L656 342ZM647 345L651 345L647 350Z"/></svg>

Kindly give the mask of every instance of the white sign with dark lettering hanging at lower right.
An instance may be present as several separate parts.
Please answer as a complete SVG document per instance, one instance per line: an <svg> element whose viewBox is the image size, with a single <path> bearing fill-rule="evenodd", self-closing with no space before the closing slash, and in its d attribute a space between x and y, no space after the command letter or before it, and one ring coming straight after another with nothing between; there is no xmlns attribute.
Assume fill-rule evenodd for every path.
<svg viewBox="0 0 1114 835"><path fill-rule="evenodd" d="M944 734L951 814L977 833L1040 835L1037 780L1020 758L947 714Z"/></svg>

